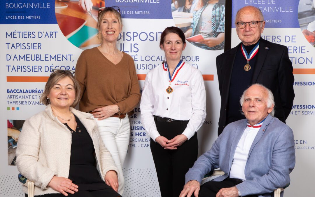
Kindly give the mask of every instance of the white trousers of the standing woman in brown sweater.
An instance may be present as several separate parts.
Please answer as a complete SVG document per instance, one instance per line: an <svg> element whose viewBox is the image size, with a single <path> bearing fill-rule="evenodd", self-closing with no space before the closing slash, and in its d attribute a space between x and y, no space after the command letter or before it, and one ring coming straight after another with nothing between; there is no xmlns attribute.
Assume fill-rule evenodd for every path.
<svg viewBox="0 0 315 197"><path fill-rule="evenodd" d="M118 179L118 193L123 195L124 190L124 178L123 178L123 162L125 161L129 136L130 136L130 123L129 118L126 116L124 119L115 117L108 117L103 120L96 120L100 136L112 154L112 158L117 165L119 171Z"/></svg>

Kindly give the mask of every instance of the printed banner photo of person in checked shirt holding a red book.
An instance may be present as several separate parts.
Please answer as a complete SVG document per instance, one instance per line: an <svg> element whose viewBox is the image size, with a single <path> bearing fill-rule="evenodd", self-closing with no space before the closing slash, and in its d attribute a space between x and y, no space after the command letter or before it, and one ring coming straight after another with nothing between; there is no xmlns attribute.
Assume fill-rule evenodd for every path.
<svg viewBox="0 0 315 197"><path fill-rule="evenodd" d="M171 9L188 42L206 50L224 49L225 0L172 0Z"/></svg>

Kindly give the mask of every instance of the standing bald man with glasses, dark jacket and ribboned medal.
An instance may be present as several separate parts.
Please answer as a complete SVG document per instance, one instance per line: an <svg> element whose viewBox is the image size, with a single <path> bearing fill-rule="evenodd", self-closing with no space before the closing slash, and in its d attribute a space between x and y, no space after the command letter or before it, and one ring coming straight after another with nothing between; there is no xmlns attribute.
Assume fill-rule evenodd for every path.
<svg viewBox="0 0 315 197"><path fill-rule="evenodd" d="M235 26L242 42L216 58L221 94L218 135L227 124L244 118L238 101L250 84L260 83L272 91L275 117L284 123L295 96L288 49L261 38L265 27L261 11L253 6L243 7L236 14Z"/></svg>

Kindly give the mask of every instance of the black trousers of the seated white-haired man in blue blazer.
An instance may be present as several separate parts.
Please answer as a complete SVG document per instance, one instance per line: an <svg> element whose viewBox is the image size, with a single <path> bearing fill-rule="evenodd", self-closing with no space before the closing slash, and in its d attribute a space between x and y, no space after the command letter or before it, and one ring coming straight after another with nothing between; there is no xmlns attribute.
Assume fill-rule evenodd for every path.
<svg viewBox="0 0 315 197"><path fill-rule="evenodd" d="M199 197L215 197L215 195L219 192L222 188L230 188L243 181L238 178L226 178L223 181L216 182L216 181L209 181L204 183L200 187ZM248 195L244 197L257 197L257 195Z"/></svg>

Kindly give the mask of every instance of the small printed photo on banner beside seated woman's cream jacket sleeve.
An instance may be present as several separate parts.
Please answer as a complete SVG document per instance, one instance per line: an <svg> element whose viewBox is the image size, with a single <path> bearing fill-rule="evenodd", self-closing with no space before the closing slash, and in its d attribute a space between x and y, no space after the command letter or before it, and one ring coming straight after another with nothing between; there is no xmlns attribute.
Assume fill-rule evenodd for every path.
<svg viewBox="0 0 315 197"><path fill-rule="evenodd" d="M8 165L15 165L15 151L19 141L20 131L25 120L8 121Z"/></svg>

